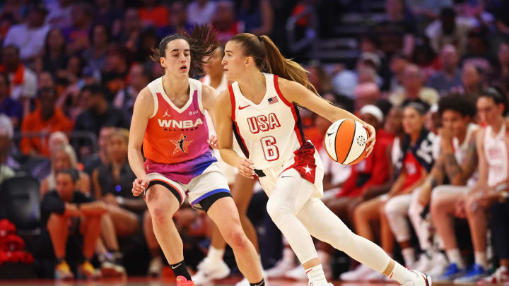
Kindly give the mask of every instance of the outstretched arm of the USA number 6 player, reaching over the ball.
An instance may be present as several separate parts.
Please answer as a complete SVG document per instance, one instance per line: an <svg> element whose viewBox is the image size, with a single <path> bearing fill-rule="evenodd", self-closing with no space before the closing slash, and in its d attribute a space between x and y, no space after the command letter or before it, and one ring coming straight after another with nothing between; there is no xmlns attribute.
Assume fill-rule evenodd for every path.
<svg viewBox="0 0 509 286"><path fill-rule="evenodd" d="M278 78L279 81L279 89L286 100L290 102L295 102L296 104L310 109L312 112L319 114L321 117L325 119L335 122L339 119L353 119L361 122L365 129L368 129L370 133L370 137L366 143L368 144L367 150L368 155L373 151L373 146L375 145L375 128L370 124L365 123L355 115L347 112L344 109L331 105L327 100L324 100L322 97L319 97L312 93L310 90L305 88L300 83L296 83L295 81L288 81L284 78Z"/></svg>

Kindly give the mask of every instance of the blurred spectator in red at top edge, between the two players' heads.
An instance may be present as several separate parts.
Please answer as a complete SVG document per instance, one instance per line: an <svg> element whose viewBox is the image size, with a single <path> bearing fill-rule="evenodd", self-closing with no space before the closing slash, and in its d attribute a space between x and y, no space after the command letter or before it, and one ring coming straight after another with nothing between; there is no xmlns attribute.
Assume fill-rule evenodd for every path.
<svg viewBox="0 0 509 286"><path fill-rule="evenodd" d="M217 32L219 44L226 44L231 37L245 31L243 23L236 20L235 6L230 0L217 1L212 26Z"/></svg>

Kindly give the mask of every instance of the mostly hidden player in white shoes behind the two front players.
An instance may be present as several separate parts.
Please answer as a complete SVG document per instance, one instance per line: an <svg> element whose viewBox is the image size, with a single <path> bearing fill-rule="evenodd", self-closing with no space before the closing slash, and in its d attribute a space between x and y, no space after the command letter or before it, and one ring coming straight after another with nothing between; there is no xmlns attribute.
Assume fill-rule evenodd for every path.
<svg viewBox="0 0 509 286"><path fill-rule="evenodd" d="M217 93L223 93L228 90L228 81L224 75L223 65L221 60L224 56L224 47L218 46L216 52L212 54L209 61L204 64L205 76L201 78L201 82L205 85L209 85L215 88ZM215 134L213 130L213 124L209 116L207 116L207 122L209 123L209 133ZM238 152L238 144L234 142L234 148ZM254 226L249 218L247 218L247 208L252 197L252 189L254 187L254 179L242 177L238 174L237 169L233 166L226 164L221 160L218 150L214 150L214 155L218 159L218 166L228 180L228 185L232 193L233 201L237 205L240 223L242 228L246 232L247 238L250 239L254 248L259 252L257 232L254 230ZM211 245L207 256L198 264L198 271L192 276L192 280L195 285L209 285L211 280L226 278L230 275L230 268L223 261L223 254L225 252L226 242L221 236L216 225L213 225L211 233ZM249 282L244 278L236 284L237 286L248 286Z"/></svg>

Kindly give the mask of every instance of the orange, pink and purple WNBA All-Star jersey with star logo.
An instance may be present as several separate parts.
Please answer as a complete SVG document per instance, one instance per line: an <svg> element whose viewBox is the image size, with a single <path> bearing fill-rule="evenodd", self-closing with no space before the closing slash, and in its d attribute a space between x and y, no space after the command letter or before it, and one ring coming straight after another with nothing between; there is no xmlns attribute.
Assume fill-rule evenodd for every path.
<svg viewBox="0 0 509 286"><path fill-rule="evenodd" d="M187 184L212 162L209 128L201 101L202 85L189 78L189 100L178 108L163 89L162 78L148 84L154 110L144 137L145 168Z"/></svg>

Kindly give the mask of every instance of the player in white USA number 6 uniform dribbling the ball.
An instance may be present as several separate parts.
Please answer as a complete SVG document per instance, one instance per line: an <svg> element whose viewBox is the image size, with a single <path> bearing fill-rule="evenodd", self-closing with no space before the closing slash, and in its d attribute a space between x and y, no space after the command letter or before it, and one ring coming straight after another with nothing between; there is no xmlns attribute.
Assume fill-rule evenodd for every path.
<svg viewBox="0 0 509 286"><path fill-rule="evenodd" d="M430 286L428 275L404 268L379 246L353 234L322 203L322 162L315 146L305 141L297 105L332 122L349 118L363 123L370 132L368 153L375 143L373 126L317 96L306 71L281 56L267 36L235 35L225 53L226 78L235 83L216 100L221 157L243 176L259 179L269 196L267 211L303 263L308 285L332 285L325 279L313 236L402 285ZM247 159L233 151L232 131Z"/></svg>

